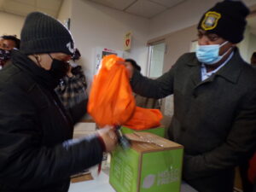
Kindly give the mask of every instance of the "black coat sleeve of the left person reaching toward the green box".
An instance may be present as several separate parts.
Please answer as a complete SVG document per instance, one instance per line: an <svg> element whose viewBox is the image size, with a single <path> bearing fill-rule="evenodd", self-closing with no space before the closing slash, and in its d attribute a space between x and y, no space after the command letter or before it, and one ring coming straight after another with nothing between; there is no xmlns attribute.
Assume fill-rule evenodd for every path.
<svg viewBox="0 0 256 192"><path fill-rule="evenodd" d="M20 90L1 91L0 106L1 182L31 189L57 183L101 162L103 150L96 136L42 146L38 113Z"/></svg>

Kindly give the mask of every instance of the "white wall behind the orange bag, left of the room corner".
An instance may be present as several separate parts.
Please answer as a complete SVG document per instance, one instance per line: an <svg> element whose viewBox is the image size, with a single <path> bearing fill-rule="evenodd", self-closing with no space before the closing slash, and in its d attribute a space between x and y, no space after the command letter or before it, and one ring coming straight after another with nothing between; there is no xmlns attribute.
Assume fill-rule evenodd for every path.
<svg viewBox="0 0 256 192"><path fill-rule="evenodd" d="M121 11L90 3L86 0L73 0L71 32L75 45L79 48L87 79L92 79L96 47L123 50L126 32L132 32L131 51L124 57L131 57L146 72L148 56L148 23L149 20Z"/></svg>

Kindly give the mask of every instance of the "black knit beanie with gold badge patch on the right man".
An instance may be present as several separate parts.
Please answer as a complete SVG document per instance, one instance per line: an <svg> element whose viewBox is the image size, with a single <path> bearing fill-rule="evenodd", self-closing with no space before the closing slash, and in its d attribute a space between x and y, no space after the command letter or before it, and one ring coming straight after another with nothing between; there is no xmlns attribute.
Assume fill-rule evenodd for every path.
<svg viewBox="0 0 256 192"><path fill-rule="evenodd" d="M241 1L225 0L216 3L201 18L197 28L219 37L233 44L241 42L247 25L246 17L249 9Z"/></svg>

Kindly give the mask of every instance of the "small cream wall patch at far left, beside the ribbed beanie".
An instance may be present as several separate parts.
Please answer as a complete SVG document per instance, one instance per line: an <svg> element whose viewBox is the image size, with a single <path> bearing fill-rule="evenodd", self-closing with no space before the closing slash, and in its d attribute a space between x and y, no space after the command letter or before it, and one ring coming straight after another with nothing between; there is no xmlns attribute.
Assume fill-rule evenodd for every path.
<svg viewBox="0 0 256 192"><path fill-rule="evenodd" d="M20 31L25 17L7 14L0 11L0 36L17 35L20 38Z"/></svg>

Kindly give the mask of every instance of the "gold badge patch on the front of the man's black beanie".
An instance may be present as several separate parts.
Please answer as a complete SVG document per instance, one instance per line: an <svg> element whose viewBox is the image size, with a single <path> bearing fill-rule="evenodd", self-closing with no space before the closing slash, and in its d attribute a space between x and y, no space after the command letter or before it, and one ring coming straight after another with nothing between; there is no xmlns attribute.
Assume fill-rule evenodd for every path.
<svg viewBox="0 0 256 192"><path fill-rule="evenodd" d="M201 22L201 27L204 30L212 30L214 29L217 24L218 24L218 20L221 18L221 15L218 14L215 11L209 11L207 12L207 14L205 15L204 20Z"/></svg>

